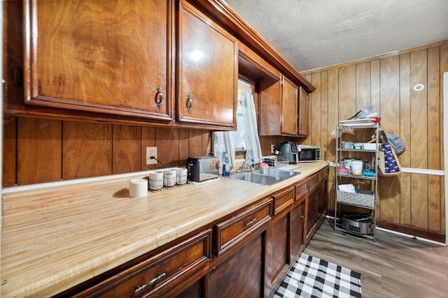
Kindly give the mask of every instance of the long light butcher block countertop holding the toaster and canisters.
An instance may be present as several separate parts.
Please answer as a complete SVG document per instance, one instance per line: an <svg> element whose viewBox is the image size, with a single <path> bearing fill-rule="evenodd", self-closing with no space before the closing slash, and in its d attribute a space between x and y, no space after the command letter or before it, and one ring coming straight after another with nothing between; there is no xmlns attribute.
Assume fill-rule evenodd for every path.
<svg viewBox="0 0 448 298"><path fill-rule="evenodd" d="M132 178L5 188L1 297L48 297L231 214L328 165L301 163L272 186L219 177L129 198ZM25 190L22 190L25 189Z"/></svg>

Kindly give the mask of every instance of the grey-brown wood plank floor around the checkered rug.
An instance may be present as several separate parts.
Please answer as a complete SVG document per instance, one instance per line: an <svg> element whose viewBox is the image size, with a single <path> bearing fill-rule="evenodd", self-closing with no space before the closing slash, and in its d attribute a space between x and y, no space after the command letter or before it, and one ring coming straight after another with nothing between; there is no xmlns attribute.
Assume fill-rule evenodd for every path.
<svg viewBox="0 0 448 298"><path fill-rule="evenodd" d="M444 245L381 230L372 241L335 231L327 219L304 253L359 272L365 298L448 297Z"/></svg>

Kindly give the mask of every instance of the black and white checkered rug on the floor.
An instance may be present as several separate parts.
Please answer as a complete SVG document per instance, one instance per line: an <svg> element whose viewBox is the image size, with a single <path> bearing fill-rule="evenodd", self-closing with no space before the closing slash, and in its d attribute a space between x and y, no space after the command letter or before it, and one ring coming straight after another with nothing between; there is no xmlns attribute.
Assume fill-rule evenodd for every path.
<svg viewBox="0 0 448 298"><path fill-rule="evenodd" d="M360 277L358 272L302 253L274 298L361 297Z"/></svg>

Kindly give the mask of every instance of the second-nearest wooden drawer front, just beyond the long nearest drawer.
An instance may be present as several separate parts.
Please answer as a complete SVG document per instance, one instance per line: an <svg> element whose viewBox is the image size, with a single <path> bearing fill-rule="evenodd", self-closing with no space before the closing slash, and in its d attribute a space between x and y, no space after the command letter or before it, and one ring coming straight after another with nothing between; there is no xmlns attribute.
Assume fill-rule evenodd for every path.
<svg viewBox="0 0 448 298"><path fill-rule="evenodd" d="M216 255L237 243L238 239L264 223L266 218L269 219L271 210L272 201L265 200L261 204L241 211L227 221L218 223L216 225Z"/></svg>

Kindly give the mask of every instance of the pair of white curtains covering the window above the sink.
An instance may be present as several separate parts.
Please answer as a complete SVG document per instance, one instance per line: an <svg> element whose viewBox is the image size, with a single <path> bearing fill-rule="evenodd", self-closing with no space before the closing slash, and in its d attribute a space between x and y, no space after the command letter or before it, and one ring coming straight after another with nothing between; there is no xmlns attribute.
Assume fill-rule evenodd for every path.
<svg viewBox="0 0 448 298"><path fill-rule="evenodd" d="M220 167L223 161L230 162L231 167L235 167L235 140L240 143L244 140L246 150L246 163L258 161L261 156L260 139L258 138L257 117L255 114L255 104L253 96L247 92L238 93L238 113L241 113L241 120L238 123L237 131L214 132L214 154L219 158Z"/></svg>

